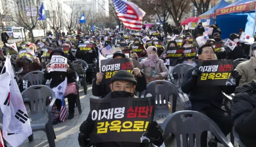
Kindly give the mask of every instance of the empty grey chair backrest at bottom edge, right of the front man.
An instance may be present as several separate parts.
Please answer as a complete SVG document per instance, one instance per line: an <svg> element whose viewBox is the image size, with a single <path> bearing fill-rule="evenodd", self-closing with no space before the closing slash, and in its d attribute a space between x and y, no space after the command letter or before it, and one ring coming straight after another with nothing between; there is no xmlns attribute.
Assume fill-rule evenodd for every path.
<svg viewBox="0 0 256 147"><path fill-rule="evenodd" d="M181 142L183 146L194 146L194 137L196 146L201 146L201 134L204 131L213 133L224 146L233 146L213 120L197 111L172 113L164 120L162 127L164 136L170 136L171 133L175 135L177 147L181 146Z"/></svg>

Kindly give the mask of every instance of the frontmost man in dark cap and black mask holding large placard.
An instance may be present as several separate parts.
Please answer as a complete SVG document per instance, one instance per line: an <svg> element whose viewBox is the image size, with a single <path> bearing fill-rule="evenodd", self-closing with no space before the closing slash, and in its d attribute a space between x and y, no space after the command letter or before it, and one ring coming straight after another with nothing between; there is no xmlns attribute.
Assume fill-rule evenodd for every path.
<svg viewBox="0 0 256 147"><path fill-rule="evenodd" d="M104 100L106 101L106 100L109 100L109 99L120 100L118 98L129 99L129 98L135 97L134 96L134 89L136 87L135 85L137 85L137 81L135 80L135 78L132 74L130 74L129 72L127 72L125 70L118 71L111 78L111 85L110 85L111 92L108 95L106 95L103 98L103 100L101 100L101 101L103 102ZM145 99L147 99L147 98L143 98L143 100L145 100ZM151 100L151 99L149 99L149 100ZM153 103L154 103L154 101L153 101ZM92 107L92 105L93 104L91 104L91 107ZM111 146L111 147L117 147L117 146L147 146L147 147L149 147L149 146L152 145L151 143L153 143L157 146L160 146L160 145L163 144L163 141L164 141L163 129L155 121L153 121L153 122L149 121L148 127L147 128L145 127L145 129L143 129L142 132L141 131L137 132L137 130L135 130L137 127L135 127L135 125L134 126L131 125L131 123L132 123L131 118L133 120L138 120L138 117L141 116L141 114L138 114L138 117L136 117L137 116L137 114L136 114L137 111L135 111L135 114L136 114L135 117L134 117L134 115L133 116L129 115L129 117L127 117L126 120L129 120L129 118L131 120L131 121L129 121L129 126L130 127L125 127L126 130L124 130L125 125L121 125L122 122L120 121L122 119L123 113L125 113L124 108L125 107L122 107L121 110L117 110L119 108L115 108L115 112L114 112L114 108L112 109L113 112L110 112L110 111L106 112L105 110L102 110L102 112L105 111L106 113L108 113L109 116L111 115L111 113L114 113L114 115L112 115L112 116L113 116L113 119L116 119L115 120L116 123L113 123L113 121L112 121L112 123L106 122L109 125L106 125L105 128L100 127L102 125L99 125L99 124L102 124L102 123L97 123L97 121L100 120L100 119L95 119L95 115L96 115L96 113L98 114L98 112L95 113L95 110L90 112L87 119L82 123L82 125L79 128L79 130L81 131L81 133L78 135L79 144L83 144L84 146L86 146L90 143L90 141L94 142L93 145L95 145L97 147L99 147L99 146ZM145 109L150 110L149 107L147 107L147 108L145 107ZM109 110L111 110L111 109L109 109ZM148 111L148 110L146 110L146 111ZM128 110L128 111L130 111L130 110ZM132 111L134 111L134 110L132 110ZM119 117L117 116L117 114L119 114L118 115ZM146 121L148 118L145 118L145 117L148 117L148 115L143 116L143 119L140 118L140 120L141 121L142 120ZM103 117L102 117L102 119L103 119ZM111 118L109 117L107 119L110 120L110 119L112 119L112 117ZM120 123L118 123L118 122L120 122ZM128 122L128 121L124 121L123 123L125 123L125 122ZM144 121L142 121L142 122L144 124ZM97 125L97 127L95 125ZM114 126L118 126L118 127L113 129ZM133 131L132 131L132 129L127 129L127 128L132 128L132 126L133 126ZM131 137L116 134L115 137L114 136L109 136L109 137L111 137L111 141L104 140L102 137L101 137L101 139L96 139L95 140L95 138L97 138L97 136L99 138L101 135L108 135L106 133L117 132L118 134L119 133L122 134L122 133L124 133L124 131L126 131L125 132L126 134L129 134L129 133L131 134L132 133L134 136L135 135L137 136L138 133L139 133L138 136L140 138L134 138L134 139L137 139L136 141L134 141L134 140L130 140ZM143 133L143 132L145 132L145 133ZM132 134L130 136L133 136ZM126 142L125 142L125 140L126 140ZM130 140L130 142L128 142L129 140Z"/></svg>

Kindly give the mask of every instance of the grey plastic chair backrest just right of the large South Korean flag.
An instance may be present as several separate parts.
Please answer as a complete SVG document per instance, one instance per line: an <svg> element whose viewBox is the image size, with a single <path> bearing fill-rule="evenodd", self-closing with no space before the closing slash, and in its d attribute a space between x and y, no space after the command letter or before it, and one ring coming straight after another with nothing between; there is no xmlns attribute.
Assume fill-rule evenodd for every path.
<svg viewBox="0 0 256 147"><path fill-rule="evenodd" d="M23 101L29 100L31 105L30 113L46 114L46 100L51 96L55 99L55 93L45 85L31 86L21 93ZM50 108L50 107L49 107Z"/></svg>

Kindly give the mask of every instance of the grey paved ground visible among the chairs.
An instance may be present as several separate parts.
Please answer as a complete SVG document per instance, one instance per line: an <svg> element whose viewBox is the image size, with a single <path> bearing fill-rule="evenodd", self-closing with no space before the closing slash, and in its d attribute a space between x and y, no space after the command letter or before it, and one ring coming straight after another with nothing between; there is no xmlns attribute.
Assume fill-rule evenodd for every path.
<svg viewBox="0 0 256 147"><path fill-rule="evenodd" d="M66 120L63 123L59 123L57 125L54 125L54 132L56 135L56 139L55 139L55 145L56 147L69 147L69 146L79 146L78 141L77 141L77 136L79 133L79 126L83 123L84 120L86 120L87 115L90 111L90 100L89 97L92 98L97 98L94 97L91 94L91 89L92 89L92 85L88 86L88 90L87 90L87 95L84 95L84 91L83 91L83 87L81 87L79 89L79 95L80 95L80 100L81 100L81 107L82 107L82 114L79 115L77 107L75 108L75 117L71 120ZM66 104L67 104L67 108L68 108L68 102L66 99ZM182 106L181 104L179 104L179 102L177 103L177 110L181 110ZM29 113L29 108L27 106L27 110ZM0 123L2 124L2 114L0 115ZM210 133L209 133L210 134ZM230 137L228 136L228 139L230 139ZM10 146L10 145L7 145ZM43 131L37 131L34 132L34 141L29 142L28 139L23 142L21 144L22 147L45 147L45 146L49 146L48 141L47 141L47 137L45 135L45 133ZM172 144L170 145L171 147L175 147L176 146L176 142L173 141ZM222 144L218 144L218 146L223 146ZM236 146L237 143L236 143Z"/></svg>

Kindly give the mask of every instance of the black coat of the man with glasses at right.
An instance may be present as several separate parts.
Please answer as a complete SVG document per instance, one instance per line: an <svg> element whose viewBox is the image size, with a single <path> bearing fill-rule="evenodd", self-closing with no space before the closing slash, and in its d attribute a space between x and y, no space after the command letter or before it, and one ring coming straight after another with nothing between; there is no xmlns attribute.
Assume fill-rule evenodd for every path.
<svg viewBox="0 0 256 147"><path fill-rule="evenodd" d="M235 86L197 85L191 78L192 72L196 68L188 70L181 85L182 92L190 94L189 100L192 104L192 110L200 111L206 107L212 107L212 105L222 109L223 97L221 91L226 94L234 93Z"/></svg>

